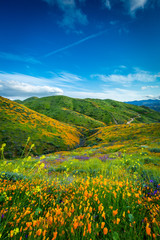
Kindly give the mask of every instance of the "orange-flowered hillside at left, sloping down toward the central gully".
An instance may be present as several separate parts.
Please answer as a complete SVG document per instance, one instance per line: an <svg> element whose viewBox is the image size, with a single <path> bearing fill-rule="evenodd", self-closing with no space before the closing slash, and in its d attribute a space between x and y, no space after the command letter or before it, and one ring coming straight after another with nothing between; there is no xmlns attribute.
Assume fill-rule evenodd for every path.
<svg viewBox="0 0 160 240"><path fill-rule="evenodd" d="M6 143L6 157L20 156L28 137L31 138L28 148L34 143L32 152L39 155L77 146L80 132L0 97L0 145Z"/></svg>

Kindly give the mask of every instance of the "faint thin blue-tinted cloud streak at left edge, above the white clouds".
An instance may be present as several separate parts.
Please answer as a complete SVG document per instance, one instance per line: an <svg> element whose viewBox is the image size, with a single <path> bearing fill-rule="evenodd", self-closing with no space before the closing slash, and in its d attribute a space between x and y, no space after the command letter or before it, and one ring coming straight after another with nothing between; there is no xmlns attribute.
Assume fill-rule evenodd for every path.
<svg viewBox="0 0 160 240"><path fill-rule="evenodd" d="M20 62L26 62L31 64L40 64L41 62L34 57L30 56L20 56L12 53L6 53L6 52L0 52L0 58L11 60L11 61L20 61Z"/></svg>

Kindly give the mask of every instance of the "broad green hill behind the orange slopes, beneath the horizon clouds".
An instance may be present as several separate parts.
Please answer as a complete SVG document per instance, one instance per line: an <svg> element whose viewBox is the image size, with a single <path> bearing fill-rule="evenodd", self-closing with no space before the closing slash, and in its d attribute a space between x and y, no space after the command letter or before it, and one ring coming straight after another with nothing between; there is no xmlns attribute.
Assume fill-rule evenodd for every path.
<svg viewBox="0 0 160 240"><path fill-rule="evenodd" d="M51 96L32 97L21 103L53 119L86 128L124 124L131 118L134 118L135 123L160 122L160 113L154 110L109 99Z"/></svg>

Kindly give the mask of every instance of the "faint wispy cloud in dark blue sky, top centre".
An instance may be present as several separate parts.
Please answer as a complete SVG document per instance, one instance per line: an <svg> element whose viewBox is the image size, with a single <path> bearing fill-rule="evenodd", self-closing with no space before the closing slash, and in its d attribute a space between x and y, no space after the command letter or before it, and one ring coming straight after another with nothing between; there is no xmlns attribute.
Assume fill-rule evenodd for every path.
<svg viewBox="0 0 160 240"><path fill-rule="evenodd" d="M43 0L49 5L56 4L63 12L63 18L59 22L60 26L74 29L78 23L80 25L88 24L87 16L77 7L75 0ZM80 3L83 1L80 0Z"/></svg>

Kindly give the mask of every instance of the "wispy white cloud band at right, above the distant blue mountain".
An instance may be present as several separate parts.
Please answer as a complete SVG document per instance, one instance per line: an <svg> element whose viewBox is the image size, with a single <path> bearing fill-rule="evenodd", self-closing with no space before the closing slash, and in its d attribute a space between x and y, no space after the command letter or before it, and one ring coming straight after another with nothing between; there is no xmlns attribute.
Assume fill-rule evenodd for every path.
<svg viewBox="0 0 160 240"><path fill-rule="evenodd" d="M151 74L147 71L137 71L136 73L130 73L128 75L122 74L111 74L111 75L103 75L103 74L94 74L91 75L92 78L98 78L104 82L115 82L120 84L127 84L134 81L138 82L155 82L158 78L160 78L160 74Z"/></svg>

